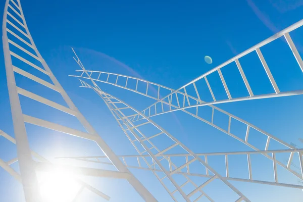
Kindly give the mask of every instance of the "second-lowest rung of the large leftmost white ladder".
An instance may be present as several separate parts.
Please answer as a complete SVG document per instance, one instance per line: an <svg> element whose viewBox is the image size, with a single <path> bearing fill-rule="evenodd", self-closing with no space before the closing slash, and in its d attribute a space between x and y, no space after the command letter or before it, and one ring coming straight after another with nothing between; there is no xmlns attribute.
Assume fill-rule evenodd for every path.
<svg viewBox="0 0 303 202"><path fill-rule="evenodd" d="M33 125L36 125L36 126L41 126L41 127L44 127L44 128L48 128L48 129L51 129L51 130L58 131L58 132L70 134L70 135L73 135L73 136L76 136L76 137L81 137L81 138L89 139L89 140L94 140L96 138L95 135L85 133L85 132L82 132L82 131L79 131L79 130L76 130L76 129L72 129L72 128L69 128L69 127L66 127L66 126L62 126L62 125L59 125L59 124L56 124L56 123L48 122L48 121L38 119L38 118L35 118L35 117L31 117L31 116L28 116L28 115L25 115L25 114L23 114L23 119L24 119L24 122L26 122L26 123L33 124Z"/></svg>

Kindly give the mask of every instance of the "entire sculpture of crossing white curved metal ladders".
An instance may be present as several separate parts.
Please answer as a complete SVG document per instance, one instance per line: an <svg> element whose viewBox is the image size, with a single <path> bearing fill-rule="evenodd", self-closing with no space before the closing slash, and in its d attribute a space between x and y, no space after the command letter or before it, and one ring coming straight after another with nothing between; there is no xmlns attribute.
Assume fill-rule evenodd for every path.
<svg viewBox="0 0 303 202"><path fill-rule="evenodd" d="M55 165L30 149L26 124L31 124L76 136L79 139L82 138L95 142L100 150L103 151L104 156L61 157L60 159L73 159L80 162L111 165L114 170L76 167L72 165L67 166L67 169L77 171L79 174L86 176L125 179L144 201L157 201L157 198L142 185L130 169L132 171L141 169L153 173L174 201L199 201L201 199L215 201L207 190L209 190L208 187L217 186L218 183L229 191L234 192L236 197L234 197L232 201L250 201L250 199L240 191L239 187L231 183L232 181L303 189L303 185L301 184L280 182L279 179L282 178L282 176L281 173L278 172L278 170L282 168L284 172L291 174L297 180L303 180L303 149L295 148L293 145L217 106L217 104L221 103L245 102L245 100L249 99L265 99L303 94L303 89L281 90L261 52L263 46L283 37L298 65L297 68L300 72L303 72L303 61L290 36L293 30L300 28L302 25L303 20L300 20L178 89L172 89L132 76L86 70L74 52L74 59L80 67L80 70L77 70L78 75L70 76L77 77L81 84L80 87L92 89L100 97L100 100L103 100L119 127L137 151L135 155L118 156L76 108L38 52L27 27L20 0L7 0L3 18L3 49L15 138L9 136L2 130L0 130L0 135L16 144L17 157L7 162L0 159L0 167L22 183L26 202L42 201L37 172L41 170L52 170ZM240 63L243 58L251 54L258 56L257 60L262 64L273 92L258 94L251 87L251 83L248 81L249 79L246 78L247 75L244 74L242 64ZM222 73L222 70L224 71L229 68L230 65L237 67L238 73L247 90L247 95L232 95L230 91L231 86L227 84L228 82L226 82L224 72ZM33 74L32 70L38 72L40 75L42 74L43 77L46 76L51 82L46 81L40 76L36 76L37 74ZM214 86L209 82L209 78L215 74L220 79L226 98L221 98L221 96L218 98L213 91ZM41 94L31 92L30 89L25 89L19 85L17 86L18 81L16 75L18 75L18 77L26 77L39 85L55 91L62 96L67 107L54 100L45 98ZM110 78L115 78L115 81L112 82ZM203 100L204 93L201 93L201 82L205 84L208 93L211 95L211 100ZM105 83L138 93L154 99L155 103L143 111L139 111L120 98L106 92L103 88L99 87L97 83ZM130 83L134 83L135 85L130 85ZM156 93L150 93L151 88L153 88L154 91L156 89ZM166 94L163 96L164 93ZM28 106L22 105L21 96L64 112L71 117L75 117L79 121L79 124L85 128L86 132L24 114L23 110ZM98 102L99 100L96 100L96 103ZM211 117L210 119L201 116L199 112L202 108L209 109L211 113L209 116ZM161 124L151 119L152 117L175 111L186 113L218 129L231 138L243 143L243 145L246 145L250 150L203 154L194 153L193 150L180 142L173 134L160 126ZM218 113L228 117L227 128L217 124L216 115ZM47 116L47 114L45 116ZM236 123L245 125L246 130L243 137L233 134L231 128L237 125ZM251 136L254 135L251 131L258 132L266 137L266 143L263 145L263 149L258 148L250 141ZM284 149L269 149L273 142L275 145L283 147ZM280 154L288 156L286 163L283 163L277 158ZM238 156L245 156L245 160L239 162L247 165L245 170L241 171L246 174L245 178L233 177L230 174L230 159ZM260 172L260 170L256 171L252 166L254 156L261 156L271 162L272 167L270 169L273 174L272 179L255 179L256 173ZM224 168L222 169L224 170L224 174L210 165L210 160L215 157L223 157ZM130 161L135 162L135 164L128 164ZM19 164L20 173L11 167L11 165L16 162ZM294 167L294 162L298 163L299 166ZM198 177L200 180L193 180L192 177ZM106 193L97 190L84 181L80 179L76 179L76 181L81 188L73 201L77 200L78 195L81 194L83 189L88 189L106 200L110 199L110 196L106 195ZM229 198L229 196L227 195L226 198Z"/></svg>

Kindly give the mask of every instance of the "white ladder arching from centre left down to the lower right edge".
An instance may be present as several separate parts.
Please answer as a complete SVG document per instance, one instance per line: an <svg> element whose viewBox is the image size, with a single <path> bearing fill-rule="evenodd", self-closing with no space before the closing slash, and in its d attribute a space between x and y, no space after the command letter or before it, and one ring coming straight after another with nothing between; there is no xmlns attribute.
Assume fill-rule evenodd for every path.
<svg viewBox="0 0 303 202"><path fill-rule="evenodd" d="M81 61L80 61L78 58L77 58L76 62L77 62L78 65L82 68L83 65L82 65ZM161 91L162 89L166 89L166 90L169 90L169 91L174 91L172 88L169 88L169 87L166 87L166 86L163 86L163 85L154 83L154 82L150 82L150 81L146 81L146 80L143 80L143 79L139 79L139 78L131 77L131 76L126 76L126 75L122 75L122 74L115 74L115 73L108 73L108 72L101 72L101 71L89 71L89 70L86 70L87 74L90 75L90 78L89 78L88 76L85 76L85 75L84 75L84 71L83 71L83 70L77 70L77 72L81 72L81 75L80 75L80 76L79 76L79 75L78 75L78 76L77 76L77 75L70 75L70 76L72 76L72 77L78 77L78 78L83 78L83 79L90 79L90 78L91 78L92 81L99 81L99 82L111 84L111 85L114 85L114 86L117 86L117 87L120 87L120 88L123 88L123 89L127 89L127 90L130 90L130 91L132 91L132 92L136 92L136 93L138 93L138 94L141 94L141 95L144 95L144 96L146 96L146 97L153 98L153 99L156 99L156 100L159 100L160 91ZM101 74L108 75L108 76L105 76L106 78L109 78L110 76L116 76L116 77L117 77L116 82L115 82L115 83L111 83L111 82L109 82L108 80L102 80L102 79L100 79L99 77L100 77ZM97 78L93 78L93 76L95 76L95 77L97 77ZM126 79L126 82L125 82L125 79L123 79L123 78L127 78L127 79ZM119 82L119 79L121 79L122 82ZM150 86L150 85L155 86L155 88L158 89L158 90L157 90L157 95L155 96L155 95L147 94L147 92L140 92L140 91L138 91L138 90L136 90L136 89L132 89L132 88L127 87L127 81L130 81L131 79L134 80L136 83L139 83L139 81L140 81L140 82L142 82L142 83L149 83L149 86ZM125 85L123 84L123 81L125 82ZM84 85L83 81L80 80L80 82L81 82L81 84L82 84L80 87L86 87L86 86ZM119 82L120 84L117 84L118 82ZM121 85L121 84L123 84L123 85ZM148 88L146 88L146 89L148 89ZM146 90L146 91L147 91L147 90ZM180 93L183 93L183 92L180 92ZM185 93L183 93L183 94L185 95ZM187 95L187 96L188 96L188 98L195 99L196 102L199 102L199 100L198 100L197 98L195 98L195 97L193 97L193 96L190 96L190 95ZM184 97L186 97L186 96L184 96ZM201 102L203 102L203 100L201 100ZM166 104L166 105L169 105L169 104L170 104L172 107L177 107L177 106L175 106L175 105L173 105L173 104L171 104L171 103L169 103L169 102L163 101L162 103L164 103L164 104ZM207 106L205 106L205 107L207 107ZM255 130L259 131L260 133L264 134L264 135L267 137L266 144L264 145L264 150L268 150L269 145L270 145L270 140L271 140L271 139L272 139L272 140L275 140L275 141L278 142L278 143L280 143L281 146L288 147L289 149L295 149L294 146L288 144L287 142L285 142L285 141L283 141L283 140L281 140L281 139L275 137L274 135L272 135L272 134L270 134L270 133L268 133L268 132L262 130L261 128L255 126L255 125L252 125L251 123L249 123L249 122L247 122L247 121L244 121L243 119L241 119L241 118L239 118L239 117L236 117L236 116L234 116L234 115L232 115L232 114L230 114L230 113L228 113L228 112L226 112L226 111L224 111L224 110L218 108L218 107L215 106L215 105L209 105L208 107L212 108L212 120L211 120L211 121L206 120L206 119L202 118L200 115L198 115L198 113L197 113L197 112L198 112L198 108L196 108L196 112L195 112L195 113L192 113L192 112L189 112L189 111L186 111L186 110L182 110L182 109L181 109L181 111L187 113L188 115L191 115L192 117L194 117L194 118L196 118L196 119L198 119L198 120L200 120L200 121L203 121L203 122L205 122L205 123L207 123L207 124L209 124L209 125L215 127L216 129L218 129L218 130L224 132L225 134L227 134L227 135L231 136L232 138L234 138L234 139L236 139L236 140L238 140L238 141L244 143L245 145L249 146L250 148L252 148L252 149L254 149L254 150L256 150L256 151L260 151L260 149L257 148L257 147L255 147L255 146L252 145L251 143L249 143L249 138L248 138L248 137L249 137L249 131L250 131L251 129L255 129ZM228 116L229 122L228 122L228 129L227 129L227 130L226 130L226 129L223 129L223 128L220 127L219 125L216 125L216 124L215 124L215 121L214 121L215 118L216 118L216 116L214 116L215 110ZM153 117L153 116L156 116L156 115L150 115L150 110L145 110L145 111L143 111L143 114L144 114L146 117L149 117L149 118L150 118L150 117ZM159 114L157 114L157 115L159 115ZM131 121L131 122L140 121L142 118L139 118L139 117L140 117L139 115L133 116L132 119L130 119L130 121ZM240 137L238 137L238 136L236 136L236 135L234 135L234 134L231 133L230 128L231 128L231 125L232 125L232 124L231 124L231 123L232 123L232 120L241 122L241 123L243 123L243 124L246 125L245 139L241 139ZM287 169L289 172L291 172L292 174L294 174L296 177L301 178L300 175L299 175L298 173L296 173L294 170L292 170L292 169L290 168L290 165L291 165L291 162L292 162L293 154L294 154L294 153L290 153L287 165L284 165L282 162L279 162L279 161L277 161L277 164L279 164L279 165L282 166L283 168ZM264 155L265 157L267 157L268 159L272 159L272 157L271 157L270 155L268 155L267 153L263 153L263 155ZM302 178L301 178L301 179L302 179Z"/></svg>

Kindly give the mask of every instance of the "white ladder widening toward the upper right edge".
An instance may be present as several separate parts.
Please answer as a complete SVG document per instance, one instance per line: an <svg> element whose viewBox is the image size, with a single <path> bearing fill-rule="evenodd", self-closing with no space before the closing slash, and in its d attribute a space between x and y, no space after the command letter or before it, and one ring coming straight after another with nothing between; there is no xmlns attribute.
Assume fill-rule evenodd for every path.
<svg viewBox="0 0 303 202"><path fill-rule="evenodd" d="M209 106L209 105L215 105L215 104L221 104L221 103L231 103L231 102L239 102L239 101L243 101L243 100L248 100L248 99L263 99L263 98L271 98L271 97L280 97L280 96L290 96L290 95L299 95L299 94L303 94L303 89L300 89L300 90L291 90L291 91L285 91L285 92L281 92L275 82L275 79L273 77L273 75L271 74L271 71L265 61L265 58L263 57L262 55L262 52L261 52L261 49L264 45L274 41L274 40L277 40L278 38L280 37L284 37L287 41L287 44L288 46L290 47L292 53L293 53L293 56L299 66L299 68L301 69L301 71L303 72L303 61L295 47L295 44L293 43L290 35L289 35L289 32L301 27L303 25L303 20L300 20L294 24L292 24L291 26L285 28L284 30L276 33L275 35L265 39L264 41L258 43L257 45L254 45L250 48L248 48L246 51L240 53L239 55L229 59L228 61L222 63L221 65L217 66L216 68L210 70L209 72L197 77L196 79L190 81L189 83L183 85L182 87L176 89L176 90L173 90L171 93L169 93L168 95L164 96L163 98L159 98L157 100L157 102L149 107L147 107L145 110L143 110L143 112L145 111L151 111L151 109L153 109L153 111L151 112L152 115L159 115L159 114L165 114L165 113L168 113L168 112L174 112L174 111L178 111L178 110L185 110L185 109L188 109L188 108L196 108L196 107L200 107L200 106ZM275 93L265 93L265 94L260 94L260 95L254 95L254 93L252 92L251 88L250 88L250 85L249 85L249 82L248 80L246 79L246 76L242 70L242 67L240 65L240 62L239 62L239 59L241 59L242 57L252 53L252 52L257 52L258 54L258 57L259 57L259 60L261 61L264 69L265 69L265 72L267 73L267 76L272 84L272 87L275 91ZM221 72L221 69L226 67L227 65L231 64L235 62L237 67L238 67L238 70L242 76L242 79L243 79L243 82L246 86L246 89L249 93L249 96L243 96L243 97L232 97L230 92L229 92L229 88L225 82L225 79L224 79L224 76ZM210 75L210 74L214 74L218 72L220 78L221 78L221 81L222 81L222 84L224 86L224 89L225 89L225 92L227 94L227 97L228 99L222 99L222 100L216 100L215 98L215 95L212 91L212 88L211 88L211 85L209 84L208 80L207 80L207 76ZM191 100L189 99L189 95L186 93L186 87L190 87L190 86L193 86L195 89L195 82L201 80L201 79L205 79L208 87L209 87L209 91L211 92L212 96L213 96L213 101L212 102L203 102L203 100L200 100L199 99L199 92L198 90L196 90L196 95L193 96L191 98ZM179 99L178 99L178 96L183 96L183 105L181 102L179 102ZM186 105L186 103L184 102L185 100L185 97L187 99L187 102L188 102L188 105ZM173 107L171 105L172 103L172 99L176 99L176 102L178 103L178 106L175 106ZM192 101L193 103L196 103L194 105L191 104ZM196 102L198 101L198 102ZM156 111L157 109L157 105L167 105L169 108L165 108L165 110L162 110L162 111ZM163 109L163 108L162 108Z"/></svg>

